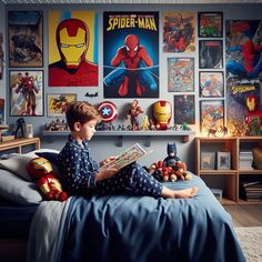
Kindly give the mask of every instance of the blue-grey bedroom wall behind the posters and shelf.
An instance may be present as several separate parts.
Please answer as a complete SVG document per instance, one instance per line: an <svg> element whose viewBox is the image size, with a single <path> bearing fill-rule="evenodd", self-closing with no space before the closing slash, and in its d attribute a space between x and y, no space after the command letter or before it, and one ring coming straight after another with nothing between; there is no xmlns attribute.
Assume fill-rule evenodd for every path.
<svg viewBox="0 0 262 262"><path fill-rule="evenodd" d="M43 36L44 36L44 100L47 99L47 93L59 93L59 92L78 92L78 99L79 100L88 100L89 102L97 104L103 100L103 79L102 79L102 44L99 46L99 69L100 69L100 78L99 78L99 97L98 98L90 98L87 99L84 94L87 91L90 93L97 92L97 88L49 88L48 87L48 11L49 10L59 10L59 9L69 9L69 10L95 10L99 13L99 39L100 42L102 41L102 13L103 11L160 11L160 21L161 21L161 11L195 11L195 16L198 11L222 11L224 21L226 19L261 19L262 13L262 4L26 4L26 6L7 6L8 10L43 10L44 17L43 17ZM2 19L3 16L1 16L0 19ZM3 24L3 23L0 23ZM1 27L1 26L0 26ZM7 28L7 27L6 27ZM7 28L8 30L8 28ZM161 26L160 26L160 43L161 43ZM198 33L196 33L196 41L195 41L195 48L196 51L193 54L195 59L195 68L199 64L198 61ZM161 44L160 44L161 47ZM170 100L172 102L173 100L173 93L169 93L167 91L168 85L168 78L167 78L167 57L170 54L164 54L160 51L160 99ZM182 56L183 57L183 56ZM225 60L224 60L225 61ZM199 82L199 75L198 70L195 69L195 94L198 95L198 82ZM6 84L8 90L8 83L3 81L3 85ZM2 90L0 90L2 92ZM142 108L147 111L150 105L157 101L158 99L140 99L140 104ZM9 101L9 93L7 93L7 101ZM119 112L123 110L123 108L130 103L132 99L114 99L114 103L119 108ZM8 105L9 107L9 105ZM9 108L8 111L8 123L14 123L17 118L9 115ZM199 120L199 105L198 100L195 101L195 119L196 124L195 129L198 131L198 120ZM47 118L47 107L44 107L44 117L26 117L27 123L32 123L34 128L34 135L41 135L41 131L43 128L43 124L46 122L50 122L50 118ZM123 119L123 115L120 113L120 119ZM173 123L173 120L171 120ZM54 148L60 150L64 142L66 137L52 137L47 138L42 137L42 148ZM123 150L123 148L131 145L133 142L144 142L144 138L142 137L127 137L123 139L123 148L115 147L118 138L110 137L98 137L94 138L91 142L91 149L94 159L101 160L109 154L118 154ZM151 154L148 158L143 159L143 164L149 165L153 161L162 160L167 155L167 142L169 141L175 141L178 145L178 155L183 159L187 163L190 170L194 171L194 143L193 138L190 138L190 141L188 143L182 143L180 137L152 137L151 141L151 149L154 151L153 154ZM95 145L95 147L94 147Z"/></svg>

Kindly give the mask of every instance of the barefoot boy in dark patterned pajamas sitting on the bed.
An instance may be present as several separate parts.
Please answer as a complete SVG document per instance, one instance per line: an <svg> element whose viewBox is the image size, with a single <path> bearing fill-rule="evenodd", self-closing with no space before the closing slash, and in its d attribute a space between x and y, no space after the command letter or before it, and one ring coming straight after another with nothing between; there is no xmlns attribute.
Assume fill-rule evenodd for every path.
<svg viewBox="0 0 262 262"><path fill-rule="evenodd" d="M196 194L196 187L180 191L165 188L135 162L121 170L100 169L113 158L99 165L90 155L87 141L95 132L100 113L88 102L75 102L69 105L66 117L71 134L59 153L59 161L61 182L69 195L124 194L130 191L153 198L192 198Z"/></svg>

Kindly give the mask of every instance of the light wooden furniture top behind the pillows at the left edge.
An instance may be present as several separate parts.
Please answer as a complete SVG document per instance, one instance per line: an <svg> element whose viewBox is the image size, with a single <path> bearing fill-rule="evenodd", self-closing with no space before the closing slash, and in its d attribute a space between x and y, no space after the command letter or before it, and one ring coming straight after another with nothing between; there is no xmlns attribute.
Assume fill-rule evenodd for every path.
<svg viewBox="0 0 262 262"><path fill-rule="evenodd" d="M22 138L13 139L4 142L0 142L0 151L18 148L18 153L22 153L22 147L28 144L34 144L36 149L40 149L39 138Z"/></svg>

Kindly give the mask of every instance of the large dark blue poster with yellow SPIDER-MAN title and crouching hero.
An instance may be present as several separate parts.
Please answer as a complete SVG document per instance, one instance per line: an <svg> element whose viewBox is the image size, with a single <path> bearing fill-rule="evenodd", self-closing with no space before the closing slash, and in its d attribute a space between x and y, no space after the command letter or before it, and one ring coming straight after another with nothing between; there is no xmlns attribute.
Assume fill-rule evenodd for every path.
<svg viewBox="0 0 262 262"><path fill-rule="evenodd" d="M159 98L159 13L103 13L104 98Z"/></svg>

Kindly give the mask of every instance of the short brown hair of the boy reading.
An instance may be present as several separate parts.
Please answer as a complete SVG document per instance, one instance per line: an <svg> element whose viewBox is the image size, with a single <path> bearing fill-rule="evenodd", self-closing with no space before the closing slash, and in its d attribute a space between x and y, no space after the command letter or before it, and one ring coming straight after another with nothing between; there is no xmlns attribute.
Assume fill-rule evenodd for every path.
<svg viewBox="0 0 262 262"><path fill-rule="evenodd" d="M68 105L66 118L70 130L73 130L73 124L80 122L84 124L88 121L97 120L98 122L102 120L99 111L89 102L77 101Z"/></svg>

